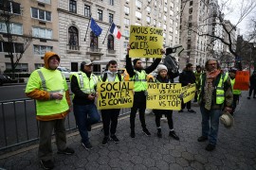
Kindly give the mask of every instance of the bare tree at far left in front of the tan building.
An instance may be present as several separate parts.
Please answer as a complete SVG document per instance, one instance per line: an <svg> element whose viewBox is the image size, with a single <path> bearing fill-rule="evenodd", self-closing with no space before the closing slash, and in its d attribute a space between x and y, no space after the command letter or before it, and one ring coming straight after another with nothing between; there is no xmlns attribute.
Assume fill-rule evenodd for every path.
<svg viewBox="0 0 256 170"><path fill-rule="evenodd" d="M9 53L9 59L11 64L11 72L15 72L15 68L18 65L20 59L22 59L25 51L27 50L28 46L32 42L32 36L29 35L23 35L18 36L13 33L12 30L12 22L15 20L15 18L20 17L17 14L21 14L22 10L20 7L20 4L15 3L13 0L1 0L0 1L0 30L2 30L2 35L0 35L0 41L1 42L8 42L8 53ZM20 40L22 42L22 45L18 46L16 55L13 55L14 52L14 42L17 40Z"/></svg>

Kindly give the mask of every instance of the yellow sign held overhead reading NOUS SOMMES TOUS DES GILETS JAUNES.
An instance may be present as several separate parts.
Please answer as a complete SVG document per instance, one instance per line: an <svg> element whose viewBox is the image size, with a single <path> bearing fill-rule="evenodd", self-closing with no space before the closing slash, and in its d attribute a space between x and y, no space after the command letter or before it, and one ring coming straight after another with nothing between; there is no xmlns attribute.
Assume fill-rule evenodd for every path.
<svg viewBox="0 0 256 170"><path fill-rule="evenodd" d="M161 58L163 29L149 26L130 27L130 58Z"/></svg>

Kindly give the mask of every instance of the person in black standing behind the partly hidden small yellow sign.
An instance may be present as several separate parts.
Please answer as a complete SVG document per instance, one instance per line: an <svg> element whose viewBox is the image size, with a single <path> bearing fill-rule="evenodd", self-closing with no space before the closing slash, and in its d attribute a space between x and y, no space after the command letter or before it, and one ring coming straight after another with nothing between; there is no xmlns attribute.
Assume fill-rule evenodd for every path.
<svg viewBox="0 0 256 170"><path fill-rule="evenodd" d="M178 78L178 81L181 83L182 87L191 85L192 83L195 83L195 76L192 73L192 68L193 68L192 63L188 63L186 65L186 68L180 74L180 76ZM186 106L187 106L187 109L188 109L189 112L195 113L195 111L192 110L192 101L184 103L183 100L182 100L182 103L181 103L181 110L179 110L178 112L183 112L183 110L185 109Z"/></svg>

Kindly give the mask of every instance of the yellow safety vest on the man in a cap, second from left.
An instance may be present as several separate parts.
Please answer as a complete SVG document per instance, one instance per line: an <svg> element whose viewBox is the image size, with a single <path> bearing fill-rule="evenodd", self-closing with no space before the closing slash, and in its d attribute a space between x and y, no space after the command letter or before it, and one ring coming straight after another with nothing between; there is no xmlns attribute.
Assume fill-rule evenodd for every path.
<svg viewBox="0 0 256 170"><path fill-rule="evenodd" d="M78 79L79 87L83 93L95 93L95 86L98 83L98 77L94 74L91 74L90 78L86 76L83 72L78 72L70 76L70 80L72 76L76 76ZM73 97L75 94L73 94Z"/></svg>

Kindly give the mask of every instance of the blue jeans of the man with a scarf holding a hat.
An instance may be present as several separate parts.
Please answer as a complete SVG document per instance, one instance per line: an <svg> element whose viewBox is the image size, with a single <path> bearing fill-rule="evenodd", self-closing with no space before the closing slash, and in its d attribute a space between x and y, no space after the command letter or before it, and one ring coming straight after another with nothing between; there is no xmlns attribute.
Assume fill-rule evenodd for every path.
<svg viewBox="0 0 256 170"><path fill-rule="evenodd" d="M221 110L206 110L204 105L200 106L200 110L202 114L202 136L208 137L209 143L216 145Z"/></svg>

